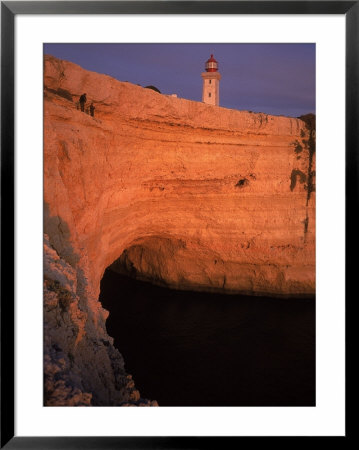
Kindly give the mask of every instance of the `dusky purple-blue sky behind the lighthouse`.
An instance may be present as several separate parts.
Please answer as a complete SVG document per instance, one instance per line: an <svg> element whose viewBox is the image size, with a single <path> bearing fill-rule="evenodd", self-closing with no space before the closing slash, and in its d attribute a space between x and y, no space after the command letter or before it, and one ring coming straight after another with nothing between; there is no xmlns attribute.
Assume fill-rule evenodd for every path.
<svg viewBox="0 0 359 450"><path fill-rule="evenodd" d="M44 44L44 53L163 94L202 100L211 54L220 106L298 117L315 113L315 44Z"/></svg>

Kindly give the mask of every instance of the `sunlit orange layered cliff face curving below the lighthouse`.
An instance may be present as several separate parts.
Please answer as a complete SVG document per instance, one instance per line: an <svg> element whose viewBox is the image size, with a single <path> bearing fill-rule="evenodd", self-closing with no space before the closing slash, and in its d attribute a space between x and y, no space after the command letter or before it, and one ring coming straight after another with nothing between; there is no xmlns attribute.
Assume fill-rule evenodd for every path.
<svg viewBox="0 0 359 450"><path fill-rule="evenodd" d="M94 118L78 109L84 92ZM98 295L115 261L180 289L314 294L314 145L300 119L173 98L46 56L44 231L74 280L58 279L83 314L76 345L98 335L112 349ZM107 394L79 387L80 403L95 391L96 403L126 401L114 383Z"/></svg>

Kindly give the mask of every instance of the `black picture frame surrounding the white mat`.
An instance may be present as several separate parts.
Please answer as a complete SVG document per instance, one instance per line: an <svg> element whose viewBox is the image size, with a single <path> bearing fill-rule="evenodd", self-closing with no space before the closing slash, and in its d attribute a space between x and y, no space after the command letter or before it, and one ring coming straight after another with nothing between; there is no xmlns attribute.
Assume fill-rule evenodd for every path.
<svg viewBox="0 0 359 450"><path fill-rule="evenodd" d="M17 14L341 14L346 19L346 355L358 248L359 1L1 2L1 448L231 448L248 437L24 437L14 435L14 20ZM335 63L335 62L333 62ZM350 364L346 360L346 436ZM238 440L241 439L239 442ZM260 442L263 438L257 438ZM274 438L271 438L272 440ZM281 438L288 441L292 438ZM316 438L318 439L318 438Z"/></svg>

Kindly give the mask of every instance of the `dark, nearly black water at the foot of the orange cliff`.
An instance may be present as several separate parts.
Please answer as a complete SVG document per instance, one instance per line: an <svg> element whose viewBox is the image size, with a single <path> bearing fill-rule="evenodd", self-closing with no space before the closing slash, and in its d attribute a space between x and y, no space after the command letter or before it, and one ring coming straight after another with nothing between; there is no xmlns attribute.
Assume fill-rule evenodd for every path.
<svg viewBox="0 0 359 450"><path fill-rule="evenodd" d="M175 291L107 270L107 331L160 406L314 406L315 299Z"/></svg>

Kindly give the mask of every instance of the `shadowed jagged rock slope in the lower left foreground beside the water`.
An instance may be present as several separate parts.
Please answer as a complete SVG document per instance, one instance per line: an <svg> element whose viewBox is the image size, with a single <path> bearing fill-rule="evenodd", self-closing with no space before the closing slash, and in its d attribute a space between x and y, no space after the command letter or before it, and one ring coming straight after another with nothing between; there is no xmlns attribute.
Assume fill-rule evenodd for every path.
<svg viewBox="0 0 359 450"><path fill-rule="evenodd" d="M44 404L142 406L104 324L94 326L80 306L75 270L50 247L46 235L44 250Z"/></svg>

